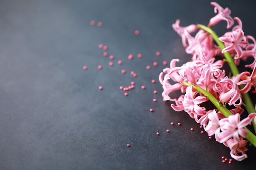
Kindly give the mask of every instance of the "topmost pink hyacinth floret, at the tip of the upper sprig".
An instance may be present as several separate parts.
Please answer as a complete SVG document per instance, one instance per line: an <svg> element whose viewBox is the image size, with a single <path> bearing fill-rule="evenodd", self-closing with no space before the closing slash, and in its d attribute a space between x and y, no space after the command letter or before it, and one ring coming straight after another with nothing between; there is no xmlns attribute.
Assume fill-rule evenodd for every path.
<svg viewBox="0 0 256 170"><path fill-rule="evenodd" d="M223 9L218 3L211 2L211 5L214 7L214 13L218 14L211 18L209 22L209 26L213 26L218 24L220 21L224 20L227 21L227 29L230 29L231 26L234 24L233 18L230 16L231 10L229 8Z"/></svg>

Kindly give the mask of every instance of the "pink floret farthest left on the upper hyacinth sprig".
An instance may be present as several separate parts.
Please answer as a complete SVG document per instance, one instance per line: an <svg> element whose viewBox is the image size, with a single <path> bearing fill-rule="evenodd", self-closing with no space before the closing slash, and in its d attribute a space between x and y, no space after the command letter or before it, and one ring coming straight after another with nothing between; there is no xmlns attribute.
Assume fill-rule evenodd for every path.
<svg viewBox="0 0 256 170"><path fill-rule="evenodd" d="M184 47L188 46L187 38L186 35L184 34L184 31L186 30L188 33L193 33L198 29L198 27L195 24L182 27L180 26L180 20L176 20L175 24L172 24L172 26L174 31L176 31L180 35Z"/></svg>

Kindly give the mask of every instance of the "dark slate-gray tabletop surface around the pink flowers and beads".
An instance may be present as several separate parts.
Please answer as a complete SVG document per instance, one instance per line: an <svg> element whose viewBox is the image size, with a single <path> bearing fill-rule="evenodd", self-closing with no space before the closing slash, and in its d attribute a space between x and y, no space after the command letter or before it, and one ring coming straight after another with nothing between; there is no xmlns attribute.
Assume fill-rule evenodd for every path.
<svg viewBox="0 0 256 170"><path fill-rule="evenodd" d="M222 163L229 148L201 134L193 119L162 102L162 61L190 60L171 24L207 24L208 0L1 0L0 169L216 170L255 167ZM256 36L255 1L220 1ZM90 26L90 20L103 27ZM226 23L213 29L224 33ZM139 29L141 34L134 35ZM113 67L98 45L115 55ZM155 56L161 51L160 57ZM128 61L128 54L143 57ZM117 60L123 60L121 66ZM157 61L159 65L153 67ZM103 65L99 71L97 66ZM87 65L88 70L83 71ZM151 65L150 71L146 65ZM126 69L125 75L121 69ZM138 75L133 78L130 71ZM136 82L125 97L119 86ZM103 91L98 87L103 86ZM142 91L141 85L146 85ZM155 95L153 90L160 93ZM174 94L178 96L178 93ZM153 103L153 98L157 102ZM149 108L154 108L150 113ZM171 126L171 121L175 126ZM177 122L182 126L177 126ZM190 128L194 131L191 132ZM166 133L166 129L170 129ZM160 135L155 135L160 132ZM126 144L131 144L128 148Z"/></svg>

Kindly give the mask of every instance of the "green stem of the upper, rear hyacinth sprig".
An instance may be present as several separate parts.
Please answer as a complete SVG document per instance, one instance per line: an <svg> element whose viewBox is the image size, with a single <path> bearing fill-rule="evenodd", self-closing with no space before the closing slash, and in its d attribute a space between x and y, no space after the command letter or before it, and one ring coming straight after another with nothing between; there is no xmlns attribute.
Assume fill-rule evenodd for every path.
<svg viewBox="0 0 256 170"><path fill-rule="evenodd" d="M207 31L208 33L211 34L211 36L213 37L213 39L216 41L216 43L218 44L218 46L220 47L221 50L223 50L225 48L225 45L219 40L219 37L218 35L212 30L210 29L209 27L207 26L204 26L202 24L198 24L198 27L203 29L204 31ZM233 58L231 57L230 53L228 51L226 51L225 53L223 53L225 58L226 58L226 61L227 63L229 64L229 67L233 73L233 75L236 77L237 75L239 75L239 70L233 60ZM244 85L240 85L239 88L243 88ZM242 96L243 96L243 102L245 103L245 108L247 110L247 112L250 114L250 113L255 113L255 108L254 108L254 105L252 103L252 100L249 96L248 93L242 93ZM252 125L254 127L254 131L256 132L256 124L254 123L254 121L252 121Z"/></svg>

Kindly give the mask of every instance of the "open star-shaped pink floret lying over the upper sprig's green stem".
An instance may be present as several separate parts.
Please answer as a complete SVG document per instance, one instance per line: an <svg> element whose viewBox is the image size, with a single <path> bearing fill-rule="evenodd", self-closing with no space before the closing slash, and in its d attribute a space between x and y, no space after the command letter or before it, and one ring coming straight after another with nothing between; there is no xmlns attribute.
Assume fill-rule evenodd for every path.
<svg viewBox="0 0 256 170"><path fill-rule="evenodd" d="M237 57L234 57L235 59L241 58L243 56L242 47L248 44L248 42L244 41L244 32L240 29L236 29L229 34L220 37L219 40L224 42L226 46L226 48L221 52L225 53L226 51L235 50L237 54Z"/></svg>

